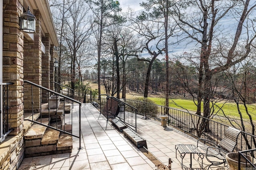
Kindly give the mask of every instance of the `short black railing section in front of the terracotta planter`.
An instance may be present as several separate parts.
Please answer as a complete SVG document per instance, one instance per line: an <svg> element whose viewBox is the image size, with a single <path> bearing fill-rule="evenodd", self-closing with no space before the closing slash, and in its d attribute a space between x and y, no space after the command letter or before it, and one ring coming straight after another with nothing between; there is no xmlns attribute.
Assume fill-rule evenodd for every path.
<svg viewBox="0 0 256 170"><path fill-rule="evenodd" d="M256 149L250 149L238 152L238 170L241 170L241 168L248 170L256 170L255 151Z"/></svg>

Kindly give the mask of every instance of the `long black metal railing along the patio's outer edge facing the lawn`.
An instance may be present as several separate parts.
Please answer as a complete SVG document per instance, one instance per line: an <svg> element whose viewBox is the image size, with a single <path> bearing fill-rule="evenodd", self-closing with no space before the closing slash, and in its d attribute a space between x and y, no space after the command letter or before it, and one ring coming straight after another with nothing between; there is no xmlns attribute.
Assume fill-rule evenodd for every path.
<svg viewBox="0 0 256 170"><path fill-rule="evenodd" d="M139 115L159 121L161 120L160 115L168 113L168 125L177 127L181 131L184 131L184 133L189 133L196 138L208 139L214 143L220 142L224 137L225 130L229 127L214 119L208 119L180 109L129 99L124 99L124 102L130 106L136 107ZM241 131L235 150L239 151L255 148L256 136Z"/></svg>

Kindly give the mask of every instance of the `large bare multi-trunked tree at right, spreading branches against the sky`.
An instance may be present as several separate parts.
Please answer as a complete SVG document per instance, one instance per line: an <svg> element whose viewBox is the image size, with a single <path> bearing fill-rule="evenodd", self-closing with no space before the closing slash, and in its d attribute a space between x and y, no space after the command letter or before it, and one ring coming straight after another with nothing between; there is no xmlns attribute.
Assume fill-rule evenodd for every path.
<svg viewBox="0 0 256 170"><path fill-rule="evenodd" d="M194 59L194 62L199 63L197 114L201 115L203 99L203 115L210 117L212 76L240 63L250 54L256 37L252 22L255 7L256 2L250 0L180 0L175 5L174 19L184 33L183 38L189 38L195 47L200 48L200 57ZM235 25L236 29L221 27L220 22L226 19L232 20L232 27ZM251 33L247 29L249 25L253 26ZM246 49L243 53L240 53L241 47ZM205 127L205 131L208 131L208 126Z"/></svg>

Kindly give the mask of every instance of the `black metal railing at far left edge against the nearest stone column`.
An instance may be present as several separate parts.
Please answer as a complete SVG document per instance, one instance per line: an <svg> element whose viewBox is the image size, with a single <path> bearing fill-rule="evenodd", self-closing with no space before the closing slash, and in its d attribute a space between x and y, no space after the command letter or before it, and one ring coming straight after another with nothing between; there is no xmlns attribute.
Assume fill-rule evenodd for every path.
<svg viewBox="0 0 256 170"><path fill-rule="evenodd" d="M9 125L9 85L13 83L0 83L0 143L13 130Z"/></svg>

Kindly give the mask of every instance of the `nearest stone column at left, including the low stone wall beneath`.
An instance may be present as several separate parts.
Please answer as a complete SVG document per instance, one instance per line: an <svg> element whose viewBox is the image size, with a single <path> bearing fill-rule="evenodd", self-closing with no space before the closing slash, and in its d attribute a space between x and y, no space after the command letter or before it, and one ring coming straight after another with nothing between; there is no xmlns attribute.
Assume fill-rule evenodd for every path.
<svg viewBox="0 0 256 170"><path fill-rule="evenodd" d="M3 54L2 54L2 74L3 82L13 82L9 88L8 106L9 123L12 131L1 143L7 146L5 153L0 153L0 169L13 170L23 160L23 33L20 31L19 16L23 13L23 0L1 0L3 6ZM13 137L12 137L13 135Z"/></svg>

